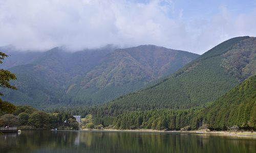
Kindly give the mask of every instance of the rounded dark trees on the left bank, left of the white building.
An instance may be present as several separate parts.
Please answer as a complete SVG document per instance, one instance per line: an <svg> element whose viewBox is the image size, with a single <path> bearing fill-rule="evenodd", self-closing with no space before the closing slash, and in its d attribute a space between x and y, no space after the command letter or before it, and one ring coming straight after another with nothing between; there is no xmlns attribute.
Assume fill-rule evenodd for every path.
<svg viewBox="0 0 256 153"><path fill-rule="evenodd" d="M46 113L31 106L17 106L12 114L0 115L0 126L18 126L18 129L78 130L78 122L69 113Z"/></svg>

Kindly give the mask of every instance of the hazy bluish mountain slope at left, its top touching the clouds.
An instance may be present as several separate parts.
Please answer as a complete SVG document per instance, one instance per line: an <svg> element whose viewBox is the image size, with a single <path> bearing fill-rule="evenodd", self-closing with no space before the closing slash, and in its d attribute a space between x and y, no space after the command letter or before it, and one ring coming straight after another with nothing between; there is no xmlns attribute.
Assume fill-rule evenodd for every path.
<svg viewBox="0 0 256 153"><path fill-rule="evenodd" d="M38 53L40 56L31 63L9 68L17 76L17 81L13 84L18 90L5 90L3 98L17 105L32 105L36 108L67 104L70 99L65 97L66 84L77 75L89 71L115 49L114 46L106 46L71 53L56 47ZM12 61L19 60L16 54L23 54L7 53L13 54L9 57L10 61L7 58L9 65L13 64ZM26 58L29 57L30 54L26 53Z"/></svg>

